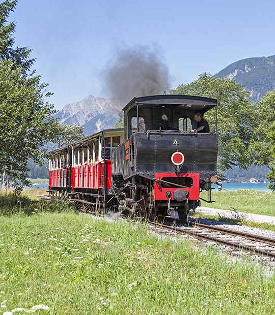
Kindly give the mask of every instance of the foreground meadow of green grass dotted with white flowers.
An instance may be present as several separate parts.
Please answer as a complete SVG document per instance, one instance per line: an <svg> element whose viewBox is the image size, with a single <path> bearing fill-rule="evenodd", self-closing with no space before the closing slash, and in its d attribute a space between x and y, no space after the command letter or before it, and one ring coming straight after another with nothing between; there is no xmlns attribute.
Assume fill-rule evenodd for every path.
<svg viewBox="0 0 275 315"><path fill-rule="evenodd" d="M146 225L68 210L2 215L0 231L3 313L273 314L274 275Z"/></svg>

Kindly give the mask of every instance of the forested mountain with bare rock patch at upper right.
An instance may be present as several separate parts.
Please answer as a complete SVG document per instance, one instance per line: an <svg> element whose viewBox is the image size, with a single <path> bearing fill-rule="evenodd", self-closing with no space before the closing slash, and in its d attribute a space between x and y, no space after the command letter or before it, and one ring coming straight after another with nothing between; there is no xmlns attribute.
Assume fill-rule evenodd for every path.
<svg viewBox="0 0 275 315"><path fill-rule="evenodd" d="M275 89L275 55L233 62L215 77L233 79L241 83L251 91L252 102L258 102L266 92Z"/></svg>

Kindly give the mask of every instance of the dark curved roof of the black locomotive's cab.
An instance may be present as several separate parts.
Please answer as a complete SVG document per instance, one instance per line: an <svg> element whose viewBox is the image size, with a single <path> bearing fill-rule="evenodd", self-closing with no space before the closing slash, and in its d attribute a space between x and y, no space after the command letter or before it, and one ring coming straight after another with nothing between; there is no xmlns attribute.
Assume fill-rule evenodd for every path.
<svg viewBox="0 0 275 315"><path fill-rule="evenodd" d="M202 98L198 96L163 94L133 98L124 108L123 111L129 111L135 105L142 107L183 107L202 113L217 106L217 100Z"/></svg>

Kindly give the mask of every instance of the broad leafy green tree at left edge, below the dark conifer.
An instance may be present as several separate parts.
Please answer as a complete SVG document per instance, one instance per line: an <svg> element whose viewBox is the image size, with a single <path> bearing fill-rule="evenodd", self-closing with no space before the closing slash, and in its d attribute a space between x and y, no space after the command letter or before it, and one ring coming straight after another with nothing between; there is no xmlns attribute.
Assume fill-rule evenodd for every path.
<svg viewBox="0 0 275 315"><path fill-rule="evenodd" d="M28 159L39 163L56 139L53 106L44 102L39 76L22 74L11 60L0 60L0 173L25 183Z"/></svg>

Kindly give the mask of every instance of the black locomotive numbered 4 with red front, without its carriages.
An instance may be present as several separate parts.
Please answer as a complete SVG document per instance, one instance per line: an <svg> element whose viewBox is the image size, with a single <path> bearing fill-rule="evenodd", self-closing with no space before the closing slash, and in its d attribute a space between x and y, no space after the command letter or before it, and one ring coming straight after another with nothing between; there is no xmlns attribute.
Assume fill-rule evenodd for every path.
<svg viewBox="0 0 275 315"><path fill-rule="evenodd" d="M200 205L203 189L211 202L217 159L216 105L209 98L161 95L134 98L125 106L127 140L112 153L113 180L120 178L123 190L127 182L132 187L125 206L164 215L175 210L185 220L189 209ZM191 132L195 113L207 116L208 133Z"/></svg>

